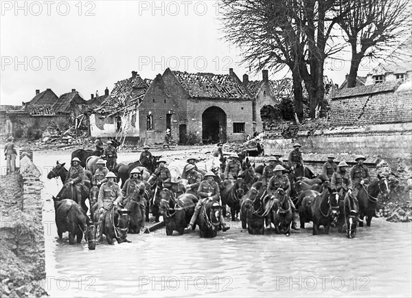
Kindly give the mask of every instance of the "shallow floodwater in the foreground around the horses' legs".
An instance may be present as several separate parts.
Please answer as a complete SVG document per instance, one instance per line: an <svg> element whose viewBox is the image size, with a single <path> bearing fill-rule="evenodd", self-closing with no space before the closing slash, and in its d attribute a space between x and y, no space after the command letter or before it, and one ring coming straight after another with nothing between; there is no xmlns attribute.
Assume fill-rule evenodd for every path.
<svg viewBox="0 0 412 298"><path fill-rule="evenodd" d="M47 291L52 297L411 297L411 224L374 218L372 227L344 234L312 236L311 229L290 237L266 232L252 236L231 223L214 239L165 236L164 229L130 235L132 243L70 246L60 242L52 195L61 181L47 181L56 159L68 152L35 152L45 183ZM122 159L137 159L122 153ZM176 233L176 232L175 232Z"/></svg>

